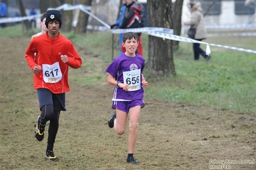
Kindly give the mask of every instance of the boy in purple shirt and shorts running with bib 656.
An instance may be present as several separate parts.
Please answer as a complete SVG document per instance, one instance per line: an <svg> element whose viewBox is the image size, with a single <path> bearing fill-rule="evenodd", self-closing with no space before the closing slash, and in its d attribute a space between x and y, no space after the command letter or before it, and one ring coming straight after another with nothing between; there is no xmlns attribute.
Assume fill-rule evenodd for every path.
<svg viewBox="0 0 256 170"><path fill-rule="evenodd" d="M136 33L126 33L123 36L123 47L126 52L118 56L106 69L108 83L115 86L112 98L112 109L116 109L113 116L108 120L108 126L114 127L118 135L123 135L126 130L126 119L128 113L129 137L128 137L128 157L126 161L132 164L139 164L135 160L133 153L138 137L139 116L141 108L144 107L144 88L148 87L142 71L145 59L136 54L139 45L139 37Z"/></svg>

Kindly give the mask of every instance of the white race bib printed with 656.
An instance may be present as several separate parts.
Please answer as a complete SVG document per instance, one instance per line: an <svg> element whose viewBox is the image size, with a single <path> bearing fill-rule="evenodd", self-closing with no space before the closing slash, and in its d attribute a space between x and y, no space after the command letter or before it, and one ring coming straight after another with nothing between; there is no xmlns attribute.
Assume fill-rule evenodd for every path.
<svg viewBox="0 0 256 170"><path fill-rule="evenodd" d="M123 72L124 84L129 85L128 91L141 89L141 69Z"/></svg>

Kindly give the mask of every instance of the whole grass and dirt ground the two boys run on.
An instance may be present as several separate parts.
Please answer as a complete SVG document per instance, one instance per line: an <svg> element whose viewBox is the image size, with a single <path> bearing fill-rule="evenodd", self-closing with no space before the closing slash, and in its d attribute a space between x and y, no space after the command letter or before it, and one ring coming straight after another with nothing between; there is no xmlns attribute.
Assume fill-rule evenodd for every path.
<svg viewBox="0 0 256 170"><path fill-rule="evenodd" d="M141 164L127 164L128 132L119 136L107 125L113 112L113 89L105 73L112 60L110 33L64 33L83 65L69 72L71 91L54 150L60 160L47 160L47 140L33 137L37 93L24 59L30 36L37 31L0 29L0 169L256 169L255 54L211 47L212 59L196 62L188 43L180 43L175 52L176 77L147 79L145 70L149 88L135 150ZM147 59L147 35L143 38ZM212 37L205 42L256 50L255 37Z"/></svg>

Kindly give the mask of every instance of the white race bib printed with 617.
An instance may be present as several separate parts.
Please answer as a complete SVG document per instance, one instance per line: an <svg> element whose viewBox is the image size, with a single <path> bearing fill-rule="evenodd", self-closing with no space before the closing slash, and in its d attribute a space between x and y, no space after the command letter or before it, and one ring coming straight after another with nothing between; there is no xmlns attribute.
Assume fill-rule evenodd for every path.
<svg viewBox="0 0 256 170"><path fill-rule="evenodd" d="M62 79L62 72L58 62L53 65L42 65L42 72L44 74L44 81L47 83L56 83Z"/></svg>

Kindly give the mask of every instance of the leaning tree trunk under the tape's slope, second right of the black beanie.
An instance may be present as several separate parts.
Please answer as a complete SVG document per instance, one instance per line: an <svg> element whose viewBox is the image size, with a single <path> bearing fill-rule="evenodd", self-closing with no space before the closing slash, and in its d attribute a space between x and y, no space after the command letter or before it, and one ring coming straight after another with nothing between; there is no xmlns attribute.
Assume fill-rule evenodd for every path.
<svg viewBox="0 0 256 170"><path fill-rule="evenodd" d="M92 0L81 0L81 4L91 6L92 5ZM87 24L88 24L88 19L89 15L85 12L80 12L79 17L78 17L78 23L76 26L76 29L74 33L86 33L87 31Z"/></svg>

